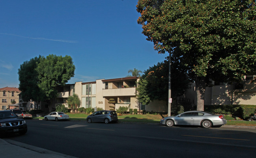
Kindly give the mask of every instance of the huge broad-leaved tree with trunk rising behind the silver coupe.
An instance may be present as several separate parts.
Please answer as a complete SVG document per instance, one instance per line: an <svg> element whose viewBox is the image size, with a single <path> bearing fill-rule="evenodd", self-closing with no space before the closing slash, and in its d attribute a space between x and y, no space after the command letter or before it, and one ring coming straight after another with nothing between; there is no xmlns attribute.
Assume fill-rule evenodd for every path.
<svg viewBox="0 0 256 158"><path fill-rule="evenodd" d="M138 0L147 40L187 68L204 110L210 81L241 81L256 69L255 0Z"/></svg>

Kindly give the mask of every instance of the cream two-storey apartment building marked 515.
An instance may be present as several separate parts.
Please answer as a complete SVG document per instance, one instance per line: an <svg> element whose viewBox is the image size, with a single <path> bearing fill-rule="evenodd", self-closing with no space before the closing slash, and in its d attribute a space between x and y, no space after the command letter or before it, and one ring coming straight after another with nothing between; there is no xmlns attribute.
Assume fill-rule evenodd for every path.
<svg viewBox="0 0 256 158"><path fill-rule="evenodd" d="M100 79L95 82L75 82L58 87L58 97L55 100L55 107L64 104L67 107L67 98L77 94L81 100L80 107L101 107L105 110L111 109L108 101L112 98L116 101L115 109L120 106L127 106L132 109L139 109L136 100L136 82L138 77L125 77L114 79Z"/></svg>

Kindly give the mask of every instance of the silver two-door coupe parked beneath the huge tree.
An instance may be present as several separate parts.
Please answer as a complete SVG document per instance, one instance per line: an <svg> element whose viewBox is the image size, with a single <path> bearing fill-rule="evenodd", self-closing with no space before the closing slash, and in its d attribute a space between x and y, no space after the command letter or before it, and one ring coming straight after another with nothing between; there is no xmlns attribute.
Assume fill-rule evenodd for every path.
<svg viewBox="0 0 256 158"><path fill-rule="evenodd" d="M227 120L222 115L206 111L187 111L177 116L168 116L160 120L161 125L172 127L174 125L201 125L204 128L222 126Z"/></svg>

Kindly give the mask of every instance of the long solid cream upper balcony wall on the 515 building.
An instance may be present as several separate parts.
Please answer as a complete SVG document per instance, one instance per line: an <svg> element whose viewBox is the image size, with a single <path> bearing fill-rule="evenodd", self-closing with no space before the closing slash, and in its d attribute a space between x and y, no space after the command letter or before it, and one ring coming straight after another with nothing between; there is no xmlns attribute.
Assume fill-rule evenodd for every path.
<svg viewBox="0 0 256 158"><path fill-rule="evenodd" d="M103 89L103 96L135 96L136 88Z"/></svg>

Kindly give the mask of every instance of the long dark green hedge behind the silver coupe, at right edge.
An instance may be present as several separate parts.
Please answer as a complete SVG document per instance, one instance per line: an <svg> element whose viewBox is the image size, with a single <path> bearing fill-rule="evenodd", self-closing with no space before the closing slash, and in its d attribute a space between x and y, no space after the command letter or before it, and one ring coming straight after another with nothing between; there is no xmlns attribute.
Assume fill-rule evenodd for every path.
<svg viewBox="0 0 256 158"><path fill-rule="evenodd" d="M204 110L215 114L231 114L246 120L256 113L256 105L204 105Z"/></svg>

